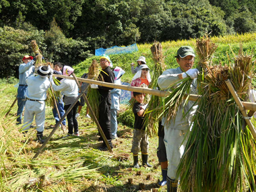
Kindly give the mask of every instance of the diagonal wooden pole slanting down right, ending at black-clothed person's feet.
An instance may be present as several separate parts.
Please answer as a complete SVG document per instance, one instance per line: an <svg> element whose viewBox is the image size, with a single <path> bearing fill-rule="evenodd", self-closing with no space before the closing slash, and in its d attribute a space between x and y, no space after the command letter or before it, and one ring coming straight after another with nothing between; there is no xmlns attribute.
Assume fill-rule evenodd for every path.
<svg viewBox="0 0 256 192"><path fill-rule="evenodd" d="M81 86L80 86L80 84L79 84L79 82L77 80L77 77L75 76L75 73L72 73L72 76L74 77L75 82L77 83L77 86L78 86L79 90L82 92L82 88L81 88ZM88 106L88 108L90 110L90 113L92 114L92 119L94 119L94 122L96 123L96 125L98 127L98 131L100 132L100 135L101 135L102 139L106 143L106 147L108 148L109 152L112 153L113 151L112 151L112 149L111 149L111 147L110 147L110 145L108 143L108 140L106 139L106 136L105 136L104 132L102 131L102 129L100 127L100 123L98 123L98 119L96 118L96 116L95 116L95 114L94 114L94 112L92 110L92 106L88 102L86 94L83 94L83 97L84 97L84 101L86 102L86 104L87 104L87 106Z"/></svg>

